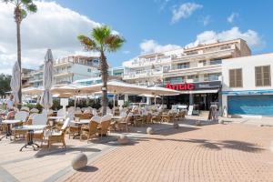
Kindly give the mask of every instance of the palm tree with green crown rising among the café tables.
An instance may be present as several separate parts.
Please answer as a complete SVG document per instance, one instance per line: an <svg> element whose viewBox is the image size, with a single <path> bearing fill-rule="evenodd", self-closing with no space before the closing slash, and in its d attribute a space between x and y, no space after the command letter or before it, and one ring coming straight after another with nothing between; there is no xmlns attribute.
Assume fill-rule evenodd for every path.
<svg viewBox="0 0 273 182"><path fill-rule="evenodd" d="M99 69L102 77L102 106L103 115L106 115L107 99L107 78L108 64L106 60L106 52L116 52L125 42L120 35L114 35L107 25L96 27L91 32L91 37L86 35L78 35L78 40L85 47L86 51L96 51L100 53Z"/></svg>

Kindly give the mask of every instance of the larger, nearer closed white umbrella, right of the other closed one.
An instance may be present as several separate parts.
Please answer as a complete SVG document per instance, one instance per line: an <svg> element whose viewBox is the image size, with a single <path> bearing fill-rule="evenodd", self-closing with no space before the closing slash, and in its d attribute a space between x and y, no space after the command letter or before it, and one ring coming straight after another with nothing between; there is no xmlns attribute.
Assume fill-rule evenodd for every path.
<svg viewBox="0 0 273 182"><path fill-rule="evenodd" d="M45 55L45 65L44 65L44 76L43 76L43 86L44 92L41 97L40 104L45 107L45 109L50 108L53 105L52 95L50 93L51 86L53 85L53 56L50 49L47 50Z"/></svg>

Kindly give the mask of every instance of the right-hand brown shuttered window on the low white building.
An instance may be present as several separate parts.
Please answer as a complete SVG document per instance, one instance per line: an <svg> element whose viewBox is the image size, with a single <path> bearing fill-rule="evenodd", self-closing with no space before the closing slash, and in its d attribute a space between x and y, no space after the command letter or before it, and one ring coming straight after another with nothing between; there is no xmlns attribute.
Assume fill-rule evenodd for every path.
<svg viewBox="0 0 273 182"><path fill-rule="evenodd" d="M270 66L255 67L256 86L271 86Z"/></svg>

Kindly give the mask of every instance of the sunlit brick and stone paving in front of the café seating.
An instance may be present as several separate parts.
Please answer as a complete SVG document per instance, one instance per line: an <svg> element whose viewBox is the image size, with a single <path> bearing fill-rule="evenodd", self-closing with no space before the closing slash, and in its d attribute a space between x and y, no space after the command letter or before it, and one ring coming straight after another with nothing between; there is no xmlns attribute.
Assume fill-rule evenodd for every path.
<svg viewBox="0 0 273 182"><path fill-rule="evenodd" d="M129 145L111 134L92 143L67 138L67 147L19 152L24 141L0 142L0 181L273 181L273 127L241 123L195 126L188 117L178 129L153 125L157 135L134 128ZM271 149L270 149L271 147ZM88 166L70 167L84 152Z"/></svg>

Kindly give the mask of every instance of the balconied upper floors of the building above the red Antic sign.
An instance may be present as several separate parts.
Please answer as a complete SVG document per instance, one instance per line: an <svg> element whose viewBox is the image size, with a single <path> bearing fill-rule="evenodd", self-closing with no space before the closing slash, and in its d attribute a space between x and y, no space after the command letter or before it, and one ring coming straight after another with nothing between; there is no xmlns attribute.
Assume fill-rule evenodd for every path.
<svg viewBox="0 0 273 182"><path fill-rule="evenodd" d="M124 80L139 85L221 81L221 60L249 56L242 39L137 56L123 63Z"/></svg>

